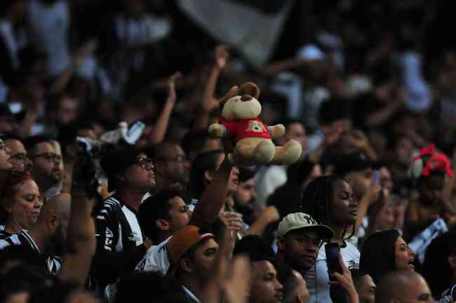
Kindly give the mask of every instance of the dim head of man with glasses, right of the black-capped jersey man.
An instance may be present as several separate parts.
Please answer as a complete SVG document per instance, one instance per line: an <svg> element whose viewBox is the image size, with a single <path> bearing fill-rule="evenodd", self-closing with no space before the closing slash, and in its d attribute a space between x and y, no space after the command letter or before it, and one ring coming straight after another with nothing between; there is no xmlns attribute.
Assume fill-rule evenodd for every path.
<svg viewBox="0 0 456 303"><path fill-rule="evenodd" d="M154 149L155 191L187 189L190 178L190 162L179 144L163 142Z"/></svg>

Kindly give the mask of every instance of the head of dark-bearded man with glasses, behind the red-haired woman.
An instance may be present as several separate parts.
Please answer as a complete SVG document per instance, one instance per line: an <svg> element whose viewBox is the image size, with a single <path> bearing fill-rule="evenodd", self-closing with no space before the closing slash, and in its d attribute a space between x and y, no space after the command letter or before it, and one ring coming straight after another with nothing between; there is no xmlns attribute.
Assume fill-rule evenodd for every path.
<svg viewBox="0 0 456 303"><path fill-rule="evenodd" d="M46 135L35 135L25 138L24 144L28 157L32 160L32 174L39 191L44 193L46 199L60 194L62 156L55 151L51 139Z"/></svg>

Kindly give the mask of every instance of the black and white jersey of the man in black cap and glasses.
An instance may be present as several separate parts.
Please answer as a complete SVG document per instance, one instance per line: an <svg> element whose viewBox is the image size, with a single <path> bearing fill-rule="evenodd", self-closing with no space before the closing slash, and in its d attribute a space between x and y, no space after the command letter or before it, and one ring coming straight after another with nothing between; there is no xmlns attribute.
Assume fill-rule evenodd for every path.
<svg viewBox="0 0 456 303"><path fill-rule="evenodd" d="M107 198L95 212L97 253L93 275L100 285L114 283L146 252L138 214L117 196Z"/></svg>

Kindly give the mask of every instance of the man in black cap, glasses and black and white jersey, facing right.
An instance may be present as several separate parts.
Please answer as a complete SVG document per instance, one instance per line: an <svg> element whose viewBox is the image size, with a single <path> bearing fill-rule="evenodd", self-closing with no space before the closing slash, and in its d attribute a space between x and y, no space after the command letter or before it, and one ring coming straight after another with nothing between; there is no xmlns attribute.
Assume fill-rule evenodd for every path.
<svg viewBox="0 0 456 303"><path fill-rule="evenodd" d="M123 147L102 156L101 165L114 194L95 210L97 252L94 274L100 288L115 283L152 245L140 228L142 197L155 186L154 165L138 147ZM109 290L109 288L107 288Z"/></svg>

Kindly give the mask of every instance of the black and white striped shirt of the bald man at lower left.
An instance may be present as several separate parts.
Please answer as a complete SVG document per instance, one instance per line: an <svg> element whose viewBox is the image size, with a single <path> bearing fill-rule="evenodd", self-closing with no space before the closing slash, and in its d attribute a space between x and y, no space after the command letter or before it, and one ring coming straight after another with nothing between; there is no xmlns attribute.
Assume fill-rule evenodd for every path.
<svg viewBox="0 0 456 303"><path fill-rule="evenodd" d="M13 234L8 238L0 240L0 249L6 248L10 245L23 245L33 250L37 255L39 255L39 257L44 258L48 271L53 275L57 274L60 270L62 258L44 255L27 231L22 230L19 234Z"/></svg>

